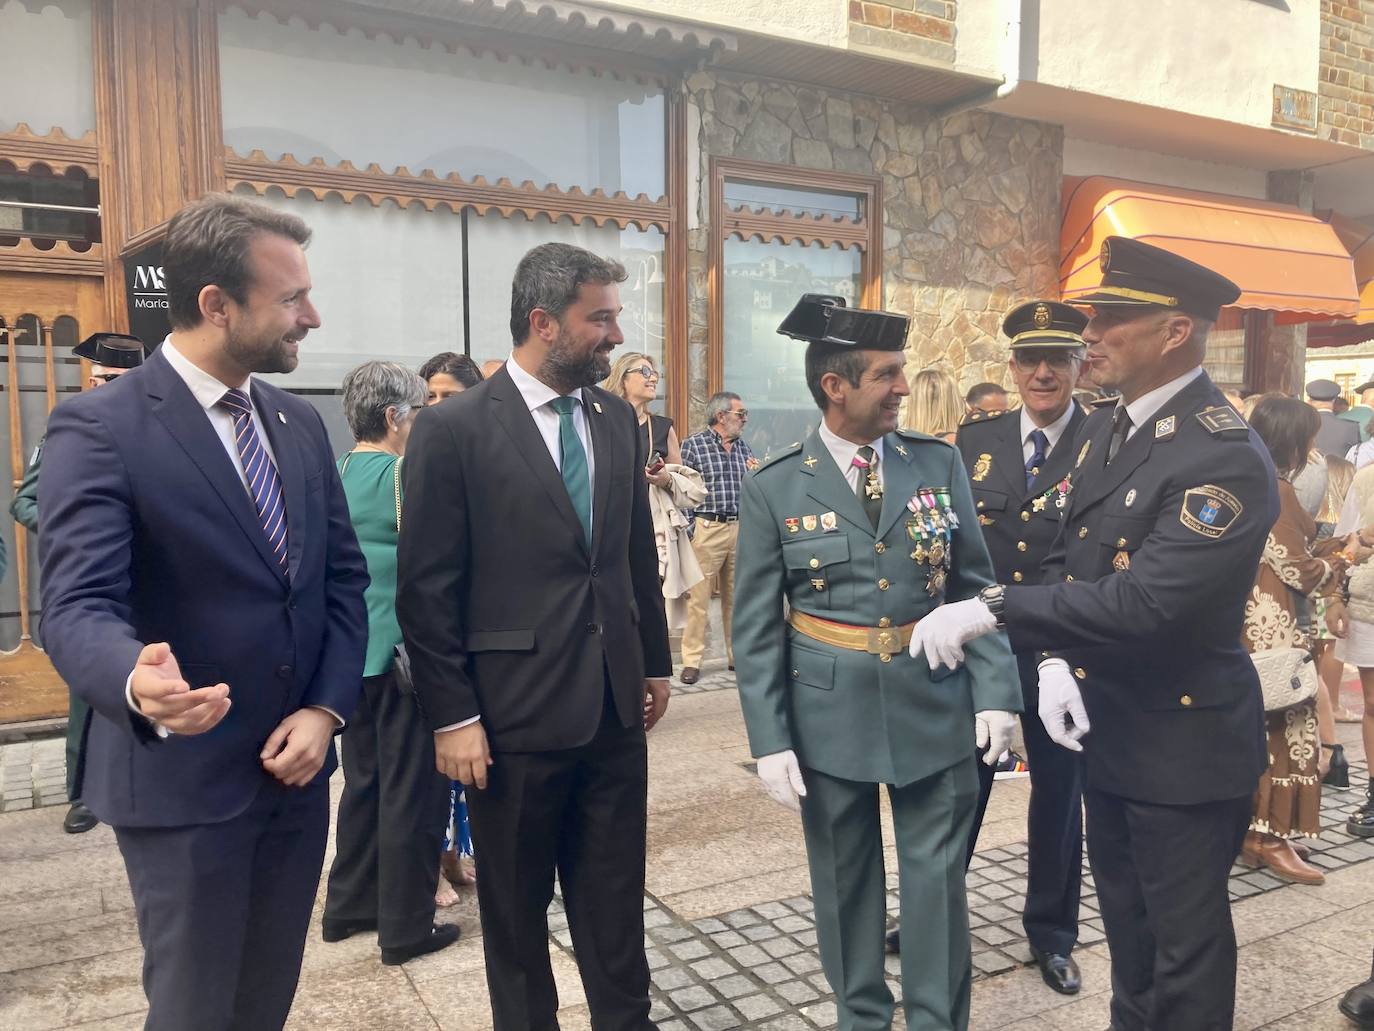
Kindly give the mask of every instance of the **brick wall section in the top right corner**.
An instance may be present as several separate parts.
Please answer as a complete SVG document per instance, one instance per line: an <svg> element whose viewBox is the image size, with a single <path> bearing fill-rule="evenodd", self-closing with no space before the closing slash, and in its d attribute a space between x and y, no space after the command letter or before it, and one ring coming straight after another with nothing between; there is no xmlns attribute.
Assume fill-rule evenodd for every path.
<svg viewBox="0 0 1374 1031"><path fill-rule="evenodd" d="M1318 135L1374 150L1374 0L1322 0L1320 62Z"/></svg>

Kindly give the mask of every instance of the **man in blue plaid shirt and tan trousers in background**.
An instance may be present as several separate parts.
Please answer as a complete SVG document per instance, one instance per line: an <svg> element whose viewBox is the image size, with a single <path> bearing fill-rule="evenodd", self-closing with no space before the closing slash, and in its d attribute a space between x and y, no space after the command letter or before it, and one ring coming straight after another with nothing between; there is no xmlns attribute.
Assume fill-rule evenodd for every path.
<svg viewBox="0 0 1374 1031"><path fill-rule="evenodd" d="M739 487L745 473L758 467L749 445L739 439L749 422L749 410L739 395L721 392L706 401L706 429L683 441L683 465L691 466L706 483L706 500L691 513L692 551L705 579L687 598L687 628L683 631L683 683L697 683L701 657L706 650L706 613L710 609L712 577L720 573L720 620L725 635L725 658L735 668L730 643L730 617L735 591L735 539L739 536Z"/></svg>

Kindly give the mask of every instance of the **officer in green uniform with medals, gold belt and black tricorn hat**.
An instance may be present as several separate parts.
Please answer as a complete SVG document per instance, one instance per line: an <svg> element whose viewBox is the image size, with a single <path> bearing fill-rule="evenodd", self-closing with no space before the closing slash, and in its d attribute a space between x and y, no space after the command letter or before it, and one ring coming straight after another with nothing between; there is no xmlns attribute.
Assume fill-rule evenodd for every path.
<svg viewBox="0 0 1374 1031"><path fill-rule="evenodd" d="M1000 635L971 645L955 671L933 672L905 642L926 613L991 584L992 562L959 452L896 429L907 319L808 294L779 331L808 341L823 418L741 498L734 639L750 751L769 795L793 807L801 796L840 1027L892 1024L878 821L888 785L907 1027L965 1028L974 748L996 762L1021 689Z"/></svg>

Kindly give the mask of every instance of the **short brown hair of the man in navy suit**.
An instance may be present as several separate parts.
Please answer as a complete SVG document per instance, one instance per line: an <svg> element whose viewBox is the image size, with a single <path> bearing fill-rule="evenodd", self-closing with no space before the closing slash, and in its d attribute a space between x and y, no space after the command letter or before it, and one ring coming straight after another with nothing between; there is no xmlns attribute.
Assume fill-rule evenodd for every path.
<svg viewBox="0 0 1374 1031"><path fill-rule="evenodd" d="M249 249L264 232L302 247L311 242L305 220L231 194L207 194L172 216L162 241L162 272L173 329L201 324L201 291L207 286L245 302L253 286Z"/></svg>

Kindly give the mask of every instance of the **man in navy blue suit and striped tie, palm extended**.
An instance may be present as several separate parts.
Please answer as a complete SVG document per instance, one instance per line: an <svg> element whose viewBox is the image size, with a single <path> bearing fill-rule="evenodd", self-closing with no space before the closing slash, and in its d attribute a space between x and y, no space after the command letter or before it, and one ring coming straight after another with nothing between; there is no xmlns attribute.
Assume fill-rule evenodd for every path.
<svg viewBox="0 0 1374 1031"><path fill-rule="evenodd" d="M280 1028L367 645L367 568L290 373L305 223L214 195L164 245L172 334L59 406L38 505L45 643L93 709L85 801L114 828L147 1031Z"/></svg>

